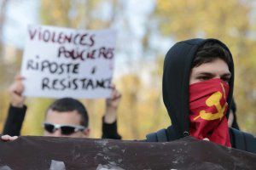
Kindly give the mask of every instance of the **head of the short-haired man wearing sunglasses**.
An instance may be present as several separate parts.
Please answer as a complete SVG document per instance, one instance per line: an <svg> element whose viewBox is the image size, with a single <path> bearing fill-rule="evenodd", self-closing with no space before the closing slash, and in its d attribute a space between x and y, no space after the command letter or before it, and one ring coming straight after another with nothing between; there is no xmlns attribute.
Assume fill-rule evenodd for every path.
<svg viewBox="0 0 256 170"><path fill-rule="evenodd" d="M44 136L89 137L88 114L79 100L57 99L47 111Z"/></svg>

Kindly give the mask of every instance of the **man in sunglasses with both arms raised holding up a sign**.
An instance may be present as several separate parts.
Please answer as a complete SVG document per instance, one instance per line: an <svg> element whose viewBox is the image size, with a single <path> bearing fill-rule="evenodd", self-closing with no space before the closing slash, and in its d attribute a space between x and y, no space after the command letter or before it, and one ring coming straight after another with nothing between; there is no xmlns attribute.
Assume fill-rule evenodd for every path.
<svg viewBox="0 0 256 170"><path fill-rule="evenodd" d="M22 122L26 115L25 97L22 95L24 86L22 77L15 78L9 88L11 105L9 115L3 128L3 134L19 136ZM102 118L102 138L121 139L117 132L116 115L121 94L113 87L112 96L106 99L106 111ZM62 98L55 100L46 111L44 126L45 136L68 136L88 138L90 134L89 116L84 105L77 99ZM14 137L16 138L16 137Z"/></svg>

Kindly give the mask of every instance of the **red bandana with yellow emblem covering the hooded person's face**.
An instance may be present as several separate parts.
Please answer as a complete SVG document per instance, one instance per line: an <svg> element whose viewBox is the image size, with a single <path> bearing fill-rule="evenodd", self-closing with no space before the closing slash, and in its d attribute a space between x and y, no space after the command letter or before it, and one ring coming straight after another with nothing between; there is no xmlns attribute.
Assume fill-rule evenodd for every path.
<svg viewBox="0 0 256 170"><path fill-rule="evenodd" d="M189 133L196 139L208 138L231 147L225 116L229 85L219 78L189 86Z"/></svg>

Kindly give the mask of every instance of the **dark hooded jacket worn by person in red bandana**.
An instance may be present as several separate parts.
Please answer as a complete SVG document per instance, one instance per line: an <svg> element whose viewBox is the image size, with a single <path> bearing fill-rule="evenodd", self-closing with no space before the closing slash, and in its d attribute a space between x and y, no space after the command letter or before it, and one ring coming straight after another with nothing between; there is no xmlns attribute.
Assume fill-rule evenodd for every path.
<svg viewBox="0 0 256 170"><path fill-rule="evenodd" d="M162 93L166 110L172 121L172 126L162 129L158 133L147 135L148 141L172 141L189 135L189 76L195 54L205 42L212 40L218 42L227 51L229 48L216 39L191 39L177 42L166 54L162 82ZM231 55L231 54L230 54ZM230 93L228 104L231 104L234 88L234 64L231 59L229 65L232 76L230 77ZM230 107L227 111L229 116ZM230 128L232 147L256 153L256 139L248 133ZM242 144L237 141L247 141ZM248 145L249 144L249 145Z"/></svg>

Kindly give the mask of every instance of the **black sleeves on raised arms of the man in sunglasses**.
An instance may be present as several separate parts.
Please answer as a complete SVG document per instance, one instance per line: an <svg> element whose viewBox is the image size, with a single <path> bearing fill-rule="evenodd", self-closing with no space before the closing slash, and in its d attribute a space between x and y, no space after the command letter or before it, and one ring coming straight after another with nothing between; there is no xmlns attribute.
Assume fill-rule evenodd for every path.
<svg viewBox="0 0 256 170"><path fill-rule="evenodd" d="M10 136L20 136L20 130L22 123L26 115L26 106L23 108L16 108L9 106L9 113L3 127L3 134L9 134ZM117 122L108 124L103 121L102 118L102 139L121 139L117 131Z"/></svg>

